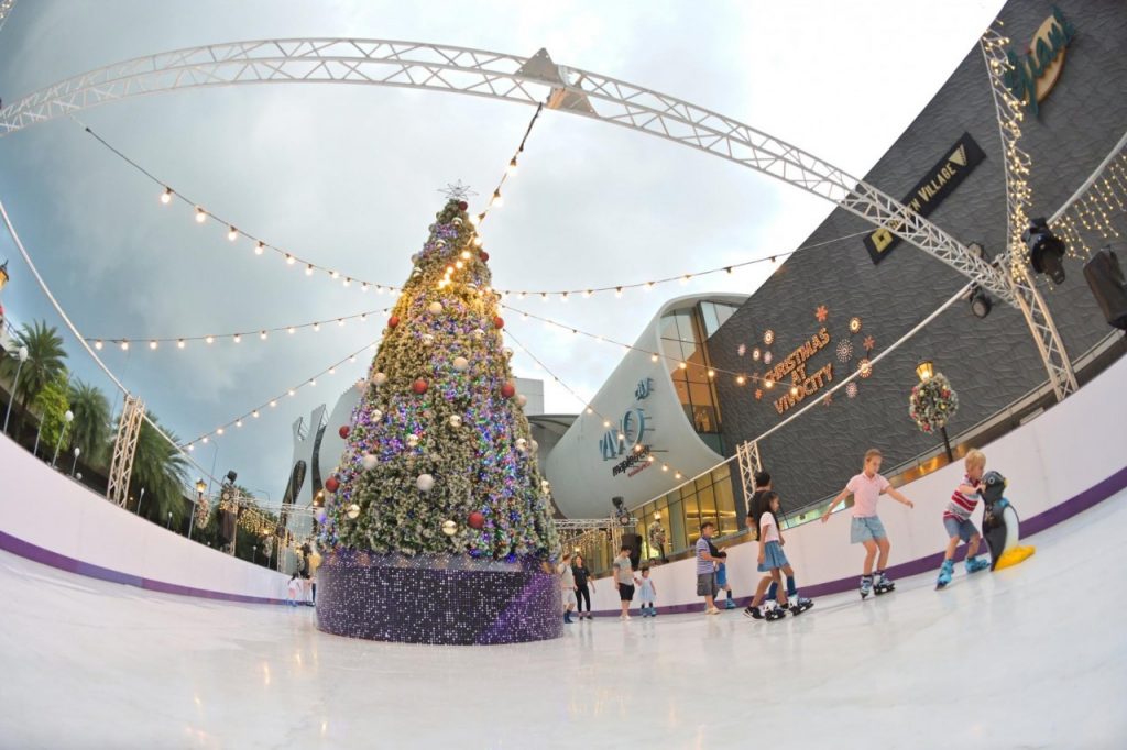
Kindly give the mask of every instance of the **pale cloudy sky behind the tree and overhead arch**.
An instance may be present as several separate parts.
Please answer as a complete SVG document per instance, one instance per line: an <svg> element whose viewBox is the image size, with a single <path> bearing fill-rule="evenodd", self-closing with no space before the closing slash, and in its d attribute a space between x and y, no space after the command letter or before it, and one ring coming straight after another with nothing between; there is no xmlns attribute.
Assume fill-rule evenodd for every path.
<svg viewBox="0 0 1127 750"><path fill-rule="evenodd" d="M553 61L680 97L863 176L948 79L996 16L996 0L867 2L373 2L19 0L0 29L0 99L135 56L265 38L406 39ZM875 113L879 111L879 116ZM480 209L532 108L478 97L373 86L240 86L137 97L0 137L0 200L24 244L87 338L190 337L329 321L319 332L257 336L100 354L126 387L185 441L249 412L378 340L388 295L307 277L160 188L83 125L163 184L240 230L343 275L401 285L410 256L461 180ZM881 186L877 186L878 188ZM896 191L893 190L895 194ZM793 186L662 139L545 110L505 205L482 229L505 289L616 286L680 277L799 247L833 205ZM62 321L5 233L10 320ZM663 302L704 292L751 294L770 275L730 276L566 303L508 303L633 342ZM545 411L576 413L624 351L509 313L521 377L544 380ZM112 382L64 332L76 377ZM511 345L512 346L512 345ZM296 391L259 419L201 446L203 470L278 502L291 423L331 409L374 351ZM195 474L203 470L193 468Z"/></svg>

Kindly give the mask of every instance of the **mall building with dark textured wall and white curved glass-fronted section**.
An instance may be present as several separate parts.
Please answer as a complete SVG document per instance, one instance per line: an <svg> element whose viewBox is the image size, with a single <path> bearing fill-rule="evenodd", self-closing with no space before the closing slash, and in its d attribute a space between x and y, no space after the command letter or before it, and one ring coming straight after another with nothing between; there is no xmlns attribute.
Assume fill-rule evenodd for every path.
<svg viewBox="0 0 1127 750"><path fill-rule="evenodd" d="M1116 230L1127 205L1127 99L1115 93L1127 88L1127 6L1011 2L1002 19L1014 65L1008 83L1026 102L1027 215L1049 218L1068 249L1063 282L1035 278L1083 384L1125 352L1084 262L1104 245L1127 255ZM873 88L873 117L882 96L895 95ZM1005 160L976 44L863 180L995 259L1006 251ZM921 360L958 394L947 425L956 458L1056 403L1022 313L997 300L979 297L974 309L960 301L871 366L967 278L843 208L800 248L748 297L682 297L650 321L593 400L598 416L576 419L544 458L562 515L607 517L620 497L644 545L657 520L665 552L676 554L704 520L733 542L747 538L737 462L719 466L746 441L773 475L789 525L816 517L870 447L882 450L894 483L933 471L947 463L942 439L908 417ZM748 259L769 250L748 248ZM658 351L666 359L655 363L647 352ZM828 395L859 369L864 377Z"/></svg>

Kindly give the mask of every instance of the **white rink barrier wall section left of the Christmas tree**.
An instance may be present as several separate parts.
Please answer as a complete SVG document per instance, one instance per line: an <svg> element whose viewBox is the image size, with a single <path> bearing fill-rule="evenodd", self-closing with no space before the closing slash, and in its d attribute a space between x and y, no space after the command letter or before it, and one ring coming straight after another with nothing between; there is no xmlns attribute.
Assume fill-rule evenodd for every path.
<svg viewBox="0 0 1127 750"><path fill-rule="evenodd" d="M284 604L289 575L141 518L0 435L0 548L79 575L150 591Z"/></svg>

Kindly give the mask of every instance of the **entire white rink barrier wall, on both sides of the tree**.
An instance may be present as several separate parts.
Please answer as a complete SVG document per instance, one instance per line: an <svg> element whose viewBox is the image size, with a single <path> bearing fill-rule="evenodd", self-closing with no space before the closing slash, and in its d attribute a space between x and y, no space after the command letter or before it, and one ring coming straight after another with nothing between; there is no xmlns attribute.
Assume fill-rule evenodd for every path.
<svg viewBox="0 0 1127 750"><path fill-rule="evenodd" d="M1127 486L1124 382L1127 358L1120 358L1064 403L982 446L987 467L1009 480L1005 494L1023 519L1023 537L1061 524ZM858 445L859 470L868 447ZM881 499L880 517L891 541L888 572L894 579L938 569L947 542L942 511L962 472L957 463L900 486L915 502L914 510ZM228 601L285 601L286 575L139 518L52 470L6 436L0 436L0 476L5 477L0 547L9 552L153 591ZM848 479L842 477L843 485ZM786 489L780 488L780 493L787 502ZM976 525L980 526L980 519L979 506ZM863 551L849 544L849 525L845 510L834 514L827 524L815 521L786 532L784 552L804 596L857 587ZM760 578L756 554L755 544L728 547L728 580L742 604ZM653 569L658 611L701 611L694 570L692 559ZM994 574L1015 575L1020 571L1019 565ZM618 614L618 592L611 579L595 584L595 613Z"/></svg>

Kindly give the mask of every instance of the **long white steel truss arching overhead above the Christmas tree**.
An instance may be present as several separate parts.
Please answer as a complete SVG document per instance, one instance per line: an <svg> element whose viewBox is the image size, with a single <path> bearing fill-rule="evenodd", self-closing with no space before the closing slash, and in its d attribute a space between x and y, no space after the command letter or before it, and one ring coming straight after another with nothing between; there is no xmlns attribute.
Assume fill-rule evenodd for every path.
<svg viewBox="0 0 1127 750"><path fill-rule="evenodd" d="M993 77L992 77L993 79ZM0 110L0 137L118 99L251 83L350 83L449 91L591 117L680 143L820 196L915 244L1022 310L1057 384L1071 373L1044 301L895 198L797 146L718 113L616 79L532 57L415 42L294 38L177 50L61 81ZM1064 380L1068 380L1065 377ZM1072 378L1074 382L1074 378Z"/></svg>

